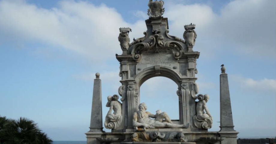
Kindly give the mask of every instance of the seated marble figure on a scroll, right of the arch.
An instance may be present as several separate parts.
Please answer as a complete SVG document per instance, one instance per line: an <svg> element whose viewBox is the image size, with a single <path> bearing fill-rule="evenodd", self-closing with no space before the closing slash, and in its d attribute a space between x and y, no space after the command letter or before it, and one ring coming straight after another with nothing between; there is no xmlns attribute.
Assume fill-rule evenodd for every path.
<svg viewBox="0 0 276 144"><path fill-rule="evenodd" d="M209 96L205 94L199 94L197 96L199 100L196 104L196 115L193 116L193 123L196 125L197 128L208 129L212 127L212 116L208 110L206 102L209 100ZM206 113L204 113L204 110Z"/></svg>

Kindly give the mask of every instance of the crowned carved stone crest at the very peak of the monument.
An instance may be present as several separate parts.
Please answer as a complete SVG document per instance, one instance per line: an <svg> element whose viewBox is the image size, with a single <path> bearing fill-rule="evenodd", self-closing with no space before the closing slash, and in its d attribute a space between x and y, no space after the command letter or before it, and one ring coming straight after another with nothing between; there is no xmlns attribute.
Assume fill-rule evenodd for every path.
<svg viewBox="0 0 276 144"><path fill-rule="evenodd" d="M161 17L165 11L165 8L163 8L164 1L153 1L149 0L149 9L148 9L148 15L149 17Z"/></svg>

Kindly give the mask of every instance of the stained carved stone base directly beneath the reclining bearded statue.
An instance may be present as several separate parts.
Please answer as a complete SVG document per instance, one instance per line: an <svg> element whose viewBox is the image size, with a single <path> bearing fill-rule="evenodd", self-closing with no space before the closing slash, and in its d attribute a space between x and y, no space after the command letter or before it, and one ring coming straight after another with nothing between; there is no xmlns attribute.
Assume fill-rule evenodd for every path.
<svg viewBox="0 0 276 144"><path fill-rule="evenodd" d="M182 132L136 132L131 136L133 142L186 142Z"/></svg>

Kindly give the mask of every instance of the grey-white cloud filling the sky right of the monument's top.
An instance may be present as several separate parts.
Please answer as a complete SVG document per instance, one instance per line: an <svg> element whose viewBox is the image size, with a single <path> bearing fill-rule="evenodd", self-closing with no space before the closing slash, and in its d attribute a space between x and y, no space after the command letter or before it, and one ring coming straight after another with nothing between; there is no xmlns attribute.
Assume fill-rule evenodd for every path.
<svg viewBox="0 0 276 144"><path fill-rule="evenodd" d="M204 4L169 4L164 15L171 22L171 34L178 37L182 37L184 25L196 24L194 50L209 58L224 51L224 55L231 52L275 59L275 6L276 1L235 0L216 14Z"/></svg>

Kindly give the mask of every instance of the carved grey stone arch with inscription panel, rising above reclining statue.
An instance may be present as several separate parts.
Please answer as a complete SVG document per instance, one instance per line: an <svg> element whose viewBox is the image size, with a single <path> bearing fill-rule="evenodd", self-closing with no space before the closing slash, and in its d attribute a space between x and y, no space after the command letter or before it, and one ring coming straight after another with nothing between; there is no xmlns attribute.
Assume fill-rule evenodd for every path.
<svg viewBox="0 0 276 144"><path fill-rule="evenodd" d="M144 37L130 43L130 28L120 28L119 41L122 54L116 54L120 62L120 81L122 86L122 115L124 128L133 129L132 117L140 104L140 86L149 78L163 76L178 85L179 123L188 124L195 115L197 85L196 59L199 52L185 40L169 35L168 20L163 17L146 20L147 31ZM193 26L193 25L191 25ZM192 110L190 110L192 108Z"/></svg>

